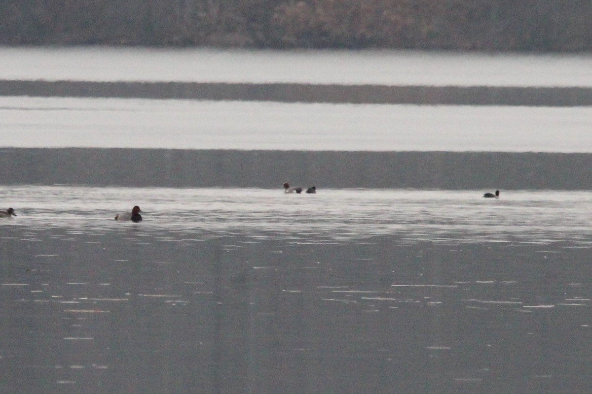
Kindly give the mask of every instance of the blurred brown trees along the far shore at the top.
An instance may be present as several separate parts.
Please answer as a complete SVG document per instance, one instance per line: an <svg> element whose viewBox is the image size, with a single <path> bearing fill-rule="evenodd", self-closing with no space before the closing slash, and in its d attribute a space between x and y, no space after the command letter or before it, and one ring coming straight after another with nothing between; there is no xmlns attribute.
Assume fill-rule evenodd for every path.
<svg viewBox="0 0 592 394"><path fill-rule="evenodd" d="M5 0L2 45L592 49L589 0Z"/></svg>

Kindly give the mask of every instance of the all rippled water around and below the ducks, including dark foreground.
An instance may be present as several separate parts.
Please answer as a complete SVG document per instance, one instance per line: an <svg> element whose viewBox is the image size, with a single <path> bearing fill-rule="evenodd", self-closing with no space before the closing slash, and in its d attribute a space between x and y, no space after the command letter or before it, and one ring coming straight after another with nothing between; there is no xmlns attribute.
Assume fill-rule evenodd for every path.
<svg viewBox="0 0 592 394"><path fill-rule="evenodd" d="M592 194L481 195L4 188L0 389L588 392Z"/></svg>

